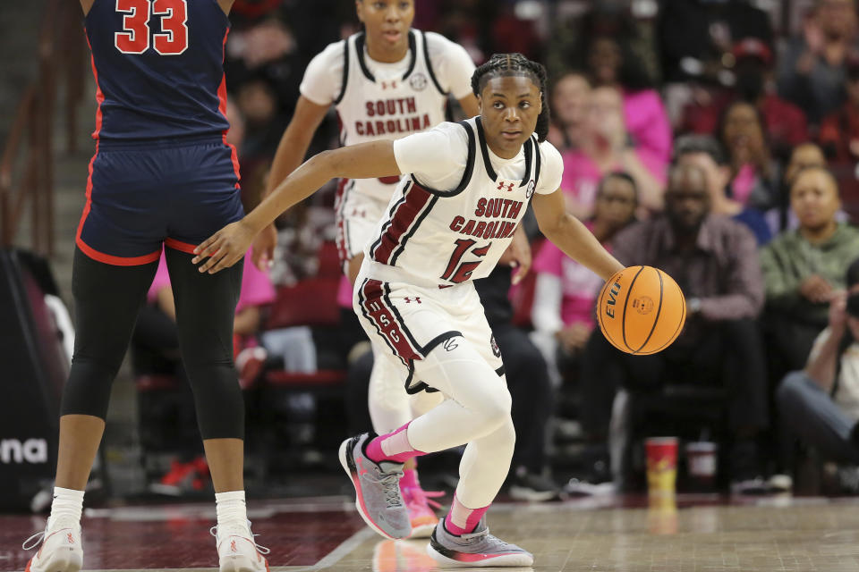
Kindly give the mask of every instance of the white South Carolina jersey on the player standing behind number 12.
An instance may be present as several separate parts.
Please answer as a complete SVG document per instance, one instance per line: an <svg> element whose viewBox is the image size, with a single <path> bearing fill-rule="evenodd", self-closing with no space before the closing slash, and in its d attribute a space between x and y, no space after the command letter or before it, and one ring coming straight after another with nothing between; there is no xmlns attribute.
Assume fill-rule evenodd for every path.
<svg viewBox="0 0 859 572"><path fill-rule="evenodd" d="M447 93L426 46L424 33L410 29L408 68L400 77L377 80L367 67L364 34L344 40L343 88L334 101L341 145L400 139L445 121ZM354 190L387 202L398 182L398 177L362 179Z"/></svg>

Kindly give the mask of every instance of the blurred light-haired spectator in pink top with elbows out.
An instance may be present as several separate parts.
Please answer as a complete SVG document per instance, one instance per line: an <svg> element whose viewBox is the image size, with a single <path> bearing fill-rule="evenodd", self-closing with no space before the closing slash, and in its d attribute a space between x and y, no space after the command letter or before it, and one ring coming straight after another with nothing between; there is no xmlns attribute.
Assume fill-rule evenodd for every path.
<svg viewBox="0 0 859 572"><path fill-rule="evenodd" d="M623 114L623 100L616 88L591 91L582 147L564 156L561 189L567 209L581 219L593 214L597 186L608 172L625 171L633 176L642 206L662 208L665 163L650 151L630 144Z"/></svg>

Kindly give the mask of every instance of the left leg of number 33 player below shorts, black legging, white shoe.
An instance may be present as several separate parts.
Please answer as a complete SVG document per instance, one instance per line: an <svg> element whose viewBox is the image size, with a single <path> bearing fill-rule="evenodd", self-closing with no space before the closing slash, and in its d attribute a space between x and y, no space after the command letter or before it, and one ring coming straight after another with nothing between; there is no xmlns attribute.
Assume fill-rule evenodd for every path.
<svg viewBox="0 0 859 572"><path fill-rule="evenodd" d="M111 384L156 270L157 261L109 265L75 249L72 295L77 327L60 406L54 501L42 548L28 564L31 572L81 568L84 489L105 430Z"/></svg>

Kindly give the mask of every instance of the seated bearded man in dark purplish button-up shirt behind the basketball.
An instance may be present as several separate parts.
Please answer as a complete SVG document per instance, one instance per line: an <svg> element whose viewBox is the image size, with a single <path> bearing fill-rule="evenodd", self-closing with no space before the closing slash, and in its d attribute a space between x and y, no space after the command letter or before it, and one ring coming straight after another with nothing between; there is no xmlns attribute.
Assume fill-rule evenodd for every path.
<svg viewBox="0 0 859 572"><path fill-rule="evenodd" d="M768 423L767 380L755 318L763 303L761 269L753 234L710 213L706 175L680 164L668 178L666 214L634 224L613 242L625 265L651 265L684 291L685 330L657 354L632 356L591 335L582 358L583 428L591 438L608 434L619 388L656 391L666 383L716 384L727 391L733 434L729 473L736 492L760 490L757 435Z"/></svg>

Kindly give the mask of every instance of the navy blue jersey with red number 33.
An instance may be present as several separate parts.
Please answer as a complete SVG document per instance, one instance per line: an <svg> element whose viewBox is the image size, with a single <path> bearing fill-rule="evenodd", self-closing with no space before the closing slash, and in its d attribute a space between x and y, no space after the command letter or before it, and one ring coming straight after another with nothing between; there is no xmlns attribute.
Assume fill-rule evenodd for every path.
<svg viewBox="0 0 859 572"><path fill-rule="evenodd" d="M93 139L225 134L224 45L216 0L96 0L85 19L98 116Z"/></svg>

